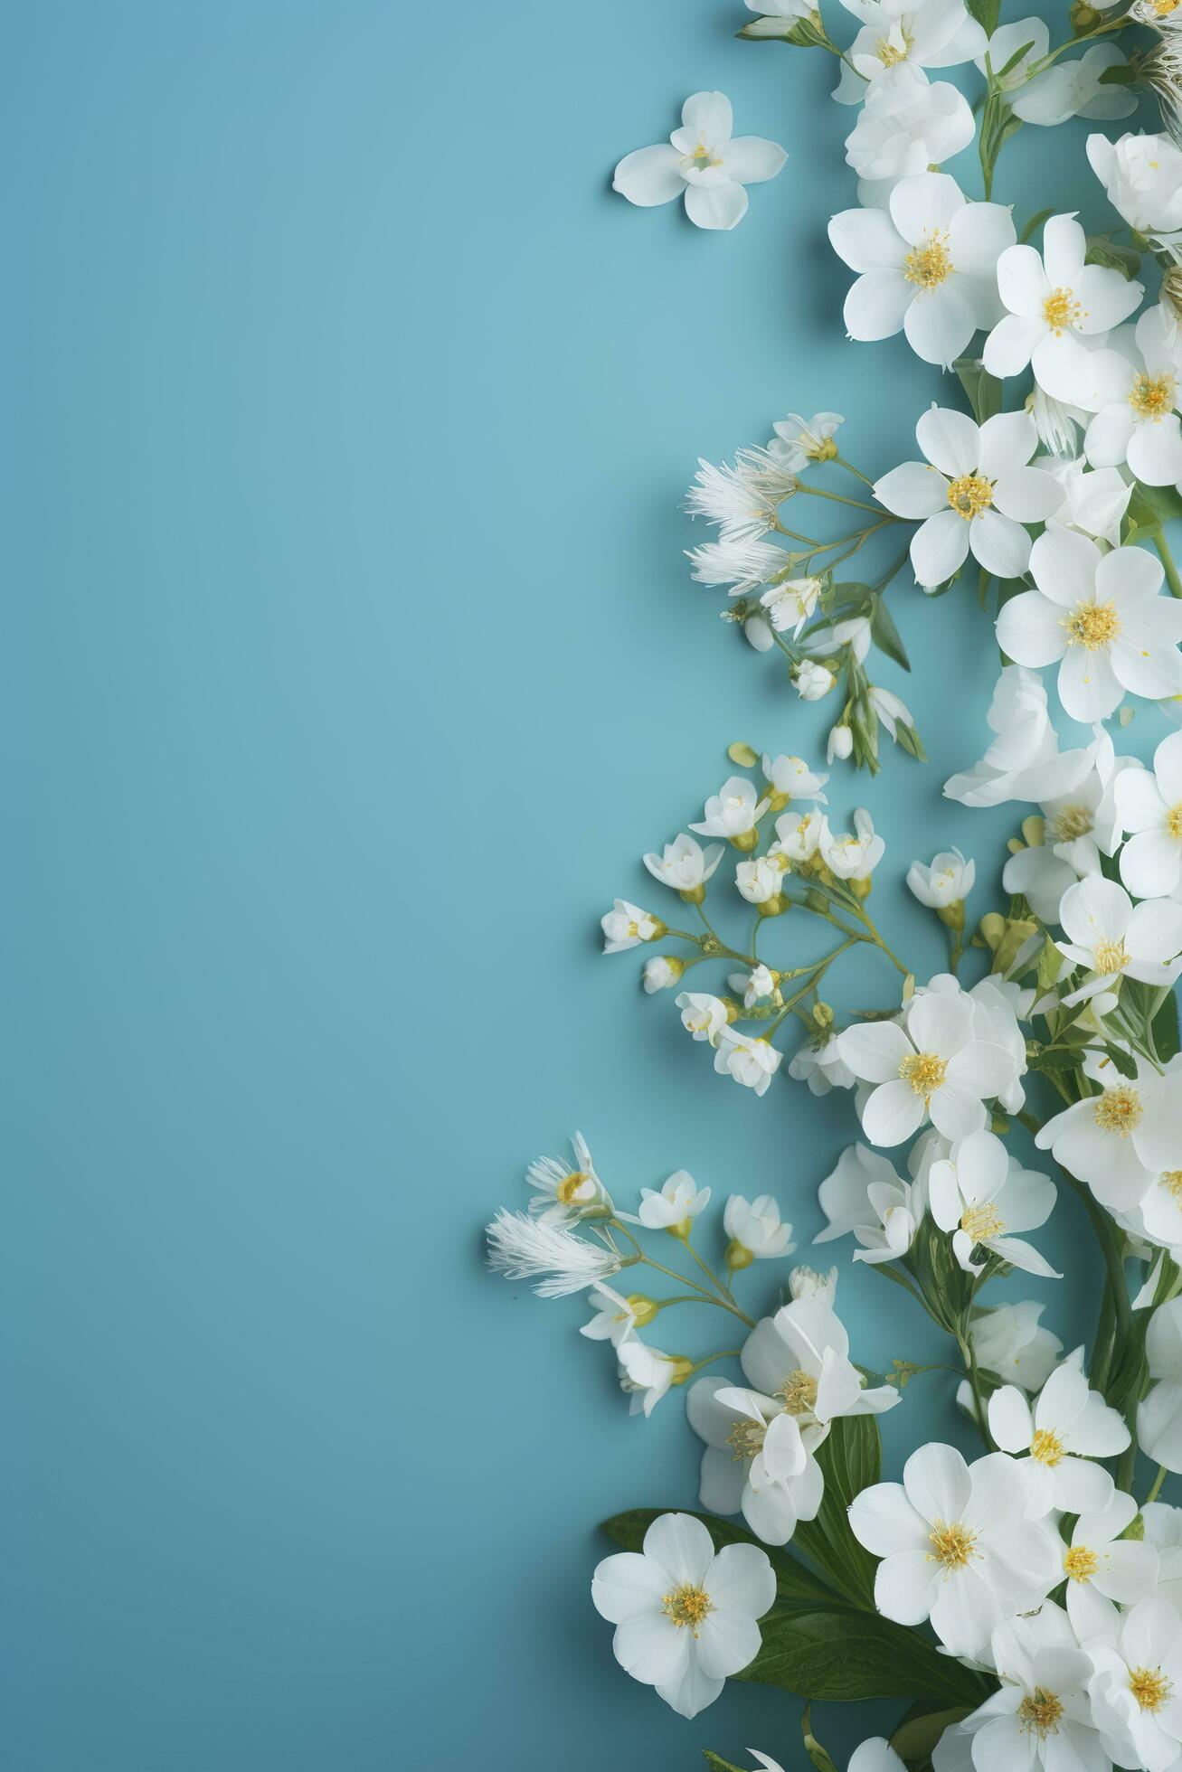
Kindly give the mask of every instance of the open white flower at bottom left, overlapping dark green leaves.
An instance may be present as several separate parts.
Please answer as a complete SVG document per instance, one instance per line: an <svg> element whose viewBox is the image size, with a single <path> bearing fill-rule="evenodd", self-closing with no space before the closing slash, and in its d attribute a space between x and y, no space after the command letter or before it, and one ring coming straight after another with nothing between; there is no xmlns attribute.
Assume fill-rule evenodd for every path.
<svg viewBox="0 0 1182 1772"><path fill-rule="evenodd" d="M714 1703L727 1675L755 1660L757 1620L776 1577L757 1545L714 1543L702 1520L663 1513L643 1554L604 1558L592 1581L595 1609L615 1627L615 1659L682 1717Z"/></svg>

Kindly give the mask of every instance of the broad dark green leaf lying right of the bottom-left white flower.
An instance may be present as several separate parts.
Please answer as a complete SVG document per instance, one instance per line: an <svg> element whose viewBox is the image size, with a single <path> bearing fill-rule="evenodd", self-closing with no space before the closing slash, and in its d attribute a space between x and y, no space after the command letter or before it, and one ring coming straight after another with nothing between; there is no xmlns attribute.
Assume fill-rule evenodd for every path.
<svg viewBox="0 0 1182 1772"><path fill-rule="evenodd" d="M923 1698L976 1708L991 1683L918 1630L854 1607L829 1613L773 1613L760 1625L755 1660L735 1675L801 1698L849 1703L863 1698Z"/></svg>

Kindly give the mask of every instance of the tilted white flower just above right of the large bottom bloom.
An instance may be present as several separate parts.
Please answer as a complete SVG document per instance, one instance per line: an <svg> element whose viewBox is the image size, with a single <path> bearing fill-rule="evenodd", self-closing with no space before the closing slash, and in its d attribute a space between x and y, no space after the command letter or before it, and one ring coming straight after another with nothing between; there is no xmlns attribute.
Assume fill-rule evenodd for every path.
<svg viewBox="0 0 1182 1772"><path fill-rule="evenodd" d="M1083 1375L1083 1348L1051 1373L1033 1407L1014 1384L989 1398L989 1432L1001 1451L1030 1453L1023 1464L1031 1519L1099 1513L1113 1499L1113 1480L1093 1458L1113 1458L1129 1428Z"/></svg>

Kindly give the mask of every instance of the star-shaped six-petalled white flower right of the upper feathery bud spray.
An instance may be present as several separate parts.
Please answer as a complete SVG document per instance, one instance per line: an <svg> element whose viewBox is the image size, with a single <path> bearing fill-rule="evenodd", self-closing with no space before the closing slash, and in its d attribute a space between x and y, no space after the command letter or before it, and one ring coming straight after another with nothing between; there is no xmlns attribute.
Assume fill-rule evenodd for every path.
<svg viewBox="0 0 1182 1772"><path fill-rule="evenodd" d="M998 578L1017 578L1030 560L1024 523L1044 523L1061 487L1028 468L1038 432L1028 413L998 413L975 425L932 406L916 425L930 466L907 461L875 480L874 496L898 517L923 517L911 537L911 565L925 588L943 585L973 556Z"/></svg>

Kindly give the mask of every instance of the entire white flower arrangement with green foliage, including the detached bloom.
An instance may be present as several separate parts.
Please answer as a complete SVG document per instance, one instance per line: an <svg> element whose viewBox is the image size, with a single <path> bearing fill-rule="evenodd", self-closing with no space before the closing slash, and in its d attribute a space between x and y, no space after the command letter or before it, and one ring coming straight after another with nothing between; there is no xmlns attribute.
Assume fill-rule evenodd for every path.
<svg viewBox="0 0 1182 1772"><path fill-rule="evenodd" d="M604 1522L617 1550L592 1581L620 1666L675 1710L696 1715L741 1675L805 1699L906 1699L851 1772L1166 1772L1182 1767L1182 1508L1159 1499L1182 1473L1182 732L1152 767L1118 746L1138 703L1155 718L1182 700L1166 539L1182 516L1182 5L1076 0L1056 46L1038 18L1001 23L996 0L845 5L844 44L808 0L767 0L741 34L836 58L835 99L858 106L858 206L829 223L854 273L845 328L902 331L959 393L913 415L918 457L900 436L877 477L845 454L838 413L792 413L734 462L698 464L688 510L714 535L691 576L727 590L727 620L796 695L833 696L828 755L732 744L702 815L643 856L657 897L617 898L603 937L645 950L643 989L670 992L688 1063L709 1056L751 1097L847 1093L856 1136L820 1180L815 1242L852 1239L946 1338L980 1451L918 1444L883 1478L879 1416L929 1368L867 1364L838 1269L790 1265L771 1194L723 1203L711 1263L709 1187L679 1170L626 1207L576 1136L571 1161L530 1166L528 1210L498 1212L489 1258L544 1297L587 1295L583 1334L611 1348L633 1412L684 1391L702 1513ZM932 78L969 64L976 106ZM1163 131L1095 133L1081 167L1109 234L994 198L1017 129L1120 120L1136 89L1161 99ZM937 170L973 138L980 198ZM734 138L721 94L696 94L615 188L642 206L684 195L698 225L727 229L782 161ZM810 533L817 500L847 519L836 539ZM854 581L881 535L893 563ZM998 881L984 914L959 851L906 867L948 946L927 978L870 909L890 867L872 810L842 829L828 797L835 766L879 767L883 730L923 760L911 711L870 675L872 656L907 668L888 610L906 569L913 595L971 585L1001 654L991 739L945 794L1019 808L982 868ZM1065 744L1058 709L1090 734ZM851 959L891 983L886 1010L845 1006ZM1042 1306L985 1290L1058 1278L1063 1189L1104 1267L1072 1350ZM679 1352L665 1313L691 1304L735 1345ZM803 1747L835 1772L808 1710Z"/></svg>

